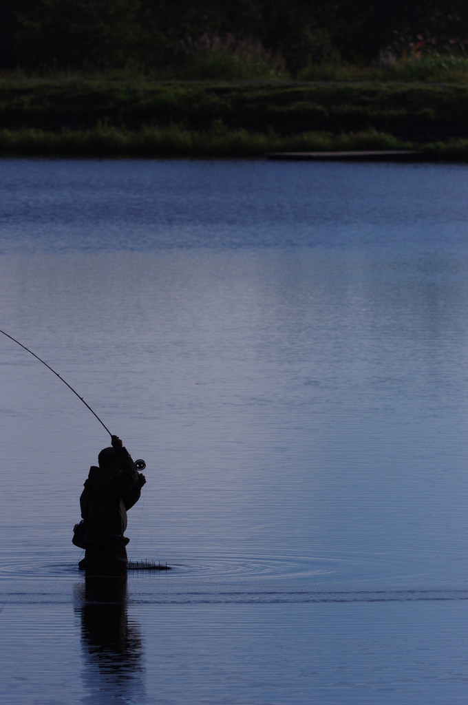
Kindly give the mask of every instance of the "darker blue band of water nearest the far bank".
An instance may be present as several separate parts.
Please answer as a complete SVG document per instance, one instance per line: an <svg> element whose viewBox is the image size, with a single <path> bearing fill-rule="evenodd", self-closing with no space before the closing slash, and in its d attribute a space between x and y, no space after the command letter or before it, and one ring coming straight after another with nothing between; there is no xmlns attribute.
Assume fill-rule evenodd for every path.
<svg viewBox="0 0 468 705"><path fill-rule="evenodd" d="M2 159L1 252L464 248L460 165Z"/></svg>

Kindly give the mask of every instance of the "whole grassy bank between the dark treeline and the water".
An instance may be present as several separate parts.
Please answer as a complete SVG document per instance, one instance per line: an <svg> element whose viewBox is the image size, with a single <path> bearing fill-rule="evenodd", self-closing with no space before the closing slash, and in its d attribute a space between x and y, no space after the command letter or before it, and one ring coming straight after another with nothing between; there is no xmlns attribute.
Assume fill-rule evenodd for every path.
<svg viewBox="0 0 468 705"><path fill-rule="evenodd" d="M425 149L465 159L468 86L0 81L1 154L238 156Z"/></svg>

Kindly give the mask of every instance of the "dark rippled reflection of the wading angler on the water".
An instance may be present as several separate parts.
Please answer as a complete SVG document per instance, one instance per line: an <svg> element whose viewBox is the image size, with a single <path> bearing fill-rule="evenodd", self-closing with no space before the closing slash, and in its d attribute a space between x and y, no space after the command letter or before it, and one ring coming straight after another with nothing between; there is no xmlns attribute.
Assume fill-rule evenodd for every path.
<svg viewBox="0 0 468 705"><path fill-rule="evenodd" d="M140 625L128 620L127 578L85 579L81 608L83 678L93 705L144 701Z"/></svg>

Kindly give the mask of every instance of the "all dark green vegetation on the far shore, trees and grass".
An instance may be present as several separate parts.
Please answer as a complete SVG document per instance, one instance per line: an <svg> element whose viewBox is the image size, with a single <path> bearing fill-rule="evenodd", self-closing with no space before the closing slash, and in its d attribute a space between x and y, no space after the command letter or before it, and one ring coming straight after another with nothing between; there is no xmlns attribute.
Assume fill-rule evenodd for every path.
<svg viewBox="0 0 468 705"><path fill-rule="evenodd" d="M0 152L464 159L462 0L0 0Z"/></svg>

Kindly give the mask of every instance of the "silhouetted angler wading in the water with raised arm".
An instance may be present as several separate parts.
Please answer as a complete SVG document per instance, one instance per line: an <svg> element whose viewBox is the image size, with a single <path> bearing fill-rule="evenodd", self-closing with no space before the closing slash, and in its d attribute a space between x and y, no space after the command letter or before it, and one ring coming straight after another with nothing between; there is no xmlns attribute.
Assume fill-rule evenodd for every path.
<svg viewBox="0 0 468 705"><path fill-rule="evenodd" d="M125 573L125 546L130 539L127 511L140 499L146 479L137 472L121 439L112 436L112 447L99 453L99 467L92 466L80 497L81 515L87 525L85 558L80 570L98 575Z"/></svg>

